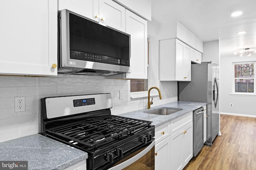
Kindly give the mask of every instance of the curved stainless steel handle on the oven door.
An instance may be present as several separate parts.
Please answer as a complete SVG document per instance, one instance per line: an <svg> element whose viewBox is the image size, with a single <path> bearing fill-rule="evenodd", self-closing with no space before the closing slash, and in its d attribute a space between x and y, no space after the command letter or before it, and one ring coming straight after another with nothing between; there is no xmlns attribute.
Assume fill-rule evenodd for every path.
<svg viewBox="0 0 256 170"><path fill-rule="evenodd" d="M109 168L108 170L121 170L127 166L129 166L130 164L136 162L137 160L139 160L142 156L144 156L148 151L150 151L150 149L152 149L155 145L155 140L152 141L152 143L150 145L148 145L148 147L146 147L144 150L142 150L140 153L136 154L135 156L133 156L132 158L122 162L121 164L118 164L112 168Z"/></svg>

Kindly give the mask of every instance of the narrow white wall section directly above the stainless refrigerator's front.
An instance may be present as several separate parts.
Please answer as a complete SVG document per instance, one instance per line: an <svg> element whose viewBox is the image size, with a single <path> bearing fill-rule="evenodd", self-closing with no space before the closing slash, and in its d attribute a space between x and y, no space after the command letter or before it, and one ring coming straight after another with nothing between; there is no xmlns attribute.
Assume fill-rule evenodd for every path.
<svg viewBox="0 0 256 170"><path fill-rule="evenodd" d="M213 61L220 64L219 40L204 42L203 47L202 62Z"/></svg>

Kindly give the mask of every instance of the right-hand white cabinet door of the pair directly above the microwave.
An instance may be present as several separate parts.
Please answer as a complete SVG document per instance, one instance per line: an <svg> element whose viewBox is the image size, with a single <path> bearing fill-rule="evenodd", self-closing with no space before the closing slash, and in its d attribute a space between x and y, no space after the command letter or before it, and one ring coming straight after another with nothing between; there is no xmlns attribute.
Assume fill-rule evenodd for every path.
<svg viewBox="0 0 256 170"><path fill-rule="evenodd" d="M125 31L125 8L112 0L99 0L99 22Z"/></svg>

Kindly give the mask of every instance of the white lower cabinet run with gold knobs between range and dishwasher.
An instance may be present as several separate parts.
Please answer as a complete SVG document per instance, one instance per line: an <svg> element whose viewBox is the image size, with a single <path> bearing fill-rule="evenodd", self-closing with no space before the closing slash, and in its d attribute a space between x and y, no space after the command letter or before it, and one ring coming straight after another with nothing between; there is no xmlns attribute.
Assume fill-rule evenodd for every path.
<svg viewBox="0 0 256 170"><path fill-rule="evenodd" d="M155 129L155 169L182 170L193 156L193 113Z"/></svg>

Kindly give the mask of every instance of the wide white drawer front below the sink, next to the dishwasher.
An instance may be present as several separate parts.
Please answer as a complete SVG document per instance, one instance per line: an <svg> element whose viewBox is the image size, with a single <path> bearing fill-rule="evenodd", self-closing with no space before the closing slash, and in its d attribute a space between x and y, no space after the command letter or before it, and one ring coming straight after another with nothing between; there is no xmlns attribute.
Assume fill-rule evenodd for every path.
<svg viewBox="0 0 256 170"><path fill-rule="evenodd" d="M180 128L188 125L192 121L193 121L193 112L183 115L182 117L178 117L177 119L174 119L170 123L170 134L172 135L173 133L178 131Z"/></svg>

